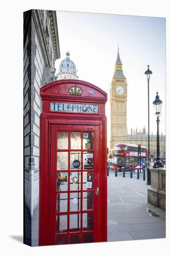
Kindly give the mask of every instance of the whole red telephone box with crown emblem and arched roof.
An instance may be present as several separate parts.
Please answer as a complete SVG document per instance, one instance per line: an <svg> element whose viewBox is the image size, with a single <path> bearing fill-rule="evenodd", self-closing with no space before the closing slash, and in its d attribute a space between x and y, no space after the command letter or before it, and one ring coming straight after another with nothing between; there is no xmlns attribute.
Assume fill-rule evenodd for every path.
<svg viewBox="0 0 170 256"><path fill-rule="evenodd" d="M107 94L59 80L40 96L39 245L107 241Z"/></svg>

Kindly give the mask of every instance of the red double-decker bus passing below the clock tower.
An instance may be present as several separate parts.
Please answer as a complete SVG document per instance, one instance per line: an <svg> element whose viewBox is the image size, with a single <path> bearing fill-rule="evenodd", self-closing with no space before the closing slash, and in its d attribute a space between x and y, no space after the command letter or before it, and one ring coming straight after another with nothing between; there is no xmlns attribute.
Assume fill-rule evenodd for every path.
<svg viewBox="0 0 170 256"><path fill-rule="evenodd" d="M133 144L116 144L113 149L111 149L111 156L113 159L113 168L117 167L118 170L122 170L124 167L125 170L130 170L131 165L134 170L138 165L138 153L137 145ZM147 162L148 158L148 149L144 146L141 146L141 161Z"/></svg>

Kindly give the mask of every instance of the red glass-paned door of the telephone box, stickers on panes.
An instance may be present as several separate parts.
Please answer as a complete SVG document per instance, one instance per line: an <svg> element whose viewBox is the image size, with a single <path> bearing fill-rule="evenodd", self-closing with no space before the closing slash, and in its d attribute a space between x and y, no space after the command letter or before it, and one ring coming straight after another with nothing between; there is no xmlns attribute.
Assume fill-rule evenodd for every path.
<svg viewBox="0 0 170 256"><path fill-rule="evenodd" d="M98 241L98 125L51 125L50 244Z"/></svg>

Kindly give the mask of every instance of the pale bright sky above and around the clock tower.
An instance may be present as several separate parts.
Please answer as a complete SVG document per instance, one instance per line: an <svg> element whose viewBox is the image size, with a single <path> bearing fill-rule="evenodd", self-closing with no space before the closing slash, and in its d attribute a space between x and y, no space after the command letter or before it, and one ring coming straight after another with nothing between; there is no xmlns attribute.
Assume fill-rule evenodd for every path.
<svg viewBox="0 0 170 256"><path fill-rule="evenodd" d="M150 77L150 134L157 123L152 102L156 93L163 101L160 134L165 134L165 18L57 11L61 58L67 51L78 69L78 79L91 82L108 94L106 115L110 140L109 88L118 54L127 79L127 128L148 130L148 89L144 72ZM56 73L57 73L56 72Z"/></svg>

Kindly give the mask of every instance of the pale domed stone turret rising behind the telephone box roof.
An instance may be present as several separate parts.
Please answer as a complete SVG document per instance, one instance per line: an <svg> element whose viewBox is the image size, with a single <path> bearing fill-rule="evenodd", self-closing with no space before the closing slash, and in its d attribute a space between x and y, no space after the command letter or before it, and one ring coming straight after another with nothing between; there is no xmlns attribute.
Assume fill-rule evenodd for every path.
<svg viewBox="0 0 170 256"><path fill-rule="evenodd" d="M60 79L78 79L77 70L74 62L70 60L69 52L66 53L66 58L59 65L57 80Z"/></svg>

